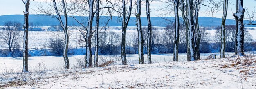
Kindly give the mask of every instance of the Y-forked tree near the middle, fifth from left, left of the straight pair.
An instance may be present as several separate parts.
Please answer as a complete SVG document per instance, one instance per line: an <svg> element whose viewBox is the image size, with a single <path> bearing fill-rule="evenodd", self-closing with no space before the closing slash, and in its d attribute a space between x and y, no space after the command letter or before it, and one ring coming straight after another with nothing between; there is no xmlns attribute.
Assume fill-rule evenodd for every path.
<svg viewBox="0 0 256 89"><path fill-rule="evenodd" d="M127 65L127 59L126 59L126 28L130 20L130 16L132 13L132 0L130 0L128 15L126 17L126 2L125 0L122 0L122 42L121 42L121 58L122 58L122 64Z"/></svg>

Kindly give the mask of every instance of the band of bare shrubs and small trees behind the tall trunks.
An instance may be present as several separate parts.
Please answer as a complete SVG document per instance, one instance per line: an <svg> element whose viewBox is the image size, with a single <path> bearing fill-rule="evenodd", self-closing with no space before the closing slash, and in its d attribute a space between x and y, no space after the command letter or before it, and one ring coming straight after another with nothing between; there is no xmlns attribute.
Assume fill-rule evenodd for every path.
<svg viewBox="0 0 256 89"><path fill-rule="evenodd" d="M4 23L4 27L0 28L0 40L2 46L9 47L9 49L0 49L0 57L22 57L22 49L19 42L22 42L22 34L20 29L21 23L17 21L8 21ZM214 36L206 32L207 27L200 27L202 32L202 41L200 44L200 53L211 53L220 51L220 27L216 27L216 33ZM235 42L235 25L226 26L226 52L234 52L234 42ZM250 28L254 29L254 28ZM166 25L165 28L159 30L157 28L152 29L152 53L173 53L173 42L175 34L175 25ZM15 32L15 34L14 34ZM143 27L144 38L147 38L147 27ZM9 38L10 43L5 38L3 34L11 34ZM81 37L81 36L80 36ZM94 37L92 38L94 40ZM127 54L137 54L138 53L138 38L137 31L128 33L126 36L126 53ZM85 45L82 45L85 41L82 38L75 39L76 44L79 45L76 48L69 48L68 55L84 55ZM115 32L115 30L101 30L99 32L99 54L100 55L115 55L120 54L121 49L121 34ZM144 40L144 53L146 51L147 40ZM50 38L43 49L29 49L29 56L61 56L63 55L64 40L62 38ZM95 43L95 42L93 42ZM94 53L94 47L92 47L92 53ZM183 26L180 26L180 42L179 42L179 53L186 53L186 30ZM245 51L256 51L256 43L252 39L252 35L245 29Z"/></svg>

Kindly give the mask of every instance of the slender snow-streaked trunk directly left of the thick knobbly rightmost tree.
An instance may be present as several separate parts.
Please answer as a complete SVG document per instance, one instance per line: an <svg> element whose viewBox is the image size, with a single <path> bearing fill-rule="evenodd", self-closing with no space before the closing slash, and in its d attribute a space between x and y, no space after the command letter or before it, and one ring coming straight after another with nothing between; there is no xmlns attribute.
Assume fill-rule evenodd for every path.
<svg viewBox="0 0 256 89"><path fill-rule="evenodd" d="M226 45L226 36L225 36L225 22L227 18L227 8L228 8L228 0L224 0L223 2L223 16L221 23L221 49L220 49L220 58L225 57L225 45Z"/></svg>

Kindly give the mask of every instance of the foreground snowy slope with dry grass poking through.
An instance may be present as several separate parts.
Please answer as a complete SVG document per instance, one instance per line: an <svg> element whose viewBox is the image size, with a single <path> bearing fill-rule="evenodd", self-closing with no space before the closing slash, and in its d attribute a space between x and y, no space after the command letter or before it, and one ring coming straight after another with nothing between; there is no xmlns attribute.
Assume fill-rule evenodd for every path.
<svg viewBox="0 0 256 89"><path fill-rule="evenodd" d="M256 56L0 74L0 88L255 89Z"/></svg>

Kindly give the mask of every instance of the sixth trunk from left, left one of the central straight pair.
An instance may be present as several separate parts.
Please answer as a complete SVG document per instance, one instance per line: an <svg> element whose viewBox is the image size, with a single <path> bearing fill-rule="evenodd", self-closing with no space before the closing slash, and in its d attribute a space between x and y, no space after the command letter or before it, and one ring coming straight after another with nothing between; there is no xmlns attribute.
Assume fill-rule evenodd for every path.
<svg viewBox="0 0 256 89"><path fill-rule="evenodd" d="M143 34L142 34L142 28L141 28L141 0L137 0L136 2L137 5L137 13L136 13L136 19L137 19L137 31L138 31L138 43L139 43L139 50L138 50L138 55L139 55L139 64L144 64L144 57L143 57Z"/></svg>

